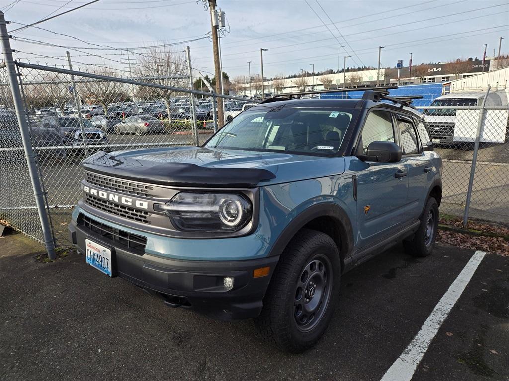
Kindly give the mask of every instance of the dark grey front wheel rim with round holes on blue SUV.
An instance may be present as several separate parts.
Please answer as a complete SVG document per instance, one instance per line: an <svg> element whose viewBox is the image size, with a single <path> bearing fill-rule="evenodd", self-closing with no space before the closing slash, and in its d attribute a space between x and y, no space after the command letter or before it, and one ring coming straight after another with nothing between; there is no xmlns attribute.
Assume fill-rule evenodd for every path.
<svg viewBox="0 0 509 381"><path fill-rule="evenodd" d="M302 269L295 287L294 319L297 329L315 328L327 309L332 289L332 266L327 257L313 257Z"/></svg>

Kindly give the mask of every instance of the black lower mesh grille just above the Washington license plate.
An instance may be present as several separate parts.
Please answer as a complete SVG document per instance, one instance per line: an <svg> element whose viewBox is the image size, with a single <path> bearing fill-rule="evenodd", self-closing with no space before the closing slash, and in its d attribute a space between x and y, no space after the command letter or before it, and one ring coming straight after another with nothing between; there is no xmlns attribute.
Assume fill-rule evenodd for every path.
<svg viewBox="0 0 509 381"><path fill-rule="evenodd" d="M122 246L138 255L144 255L147 238L124 230L112 228L82 213L78 215L78 226L99 235L103 240Z"/></svg>

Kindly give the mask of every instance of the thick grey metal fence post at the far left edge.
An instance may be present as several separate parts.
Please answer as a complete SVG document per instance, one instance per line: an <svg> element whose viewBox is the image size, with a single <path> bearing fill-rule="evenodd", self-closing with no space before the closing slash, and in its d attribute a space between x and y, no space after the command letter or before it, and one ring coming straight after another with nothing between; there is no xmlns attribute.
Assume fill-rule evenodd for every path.
<svg viewBox="0 0 509 381"><path fill-rule="evenodd" d="M4 12L0 11L0 39L2 40L2 49L4 50L5 65L9 74L9 82L11 84L12 98L14 100L14 107L19 123L19 130L21 139L23 141L23 148L26 157L26 164L29 169L30 179L34 188L34 196L39 212L39 219L41 222L41 229L44 239L44 246L48 252L48 258L53 260L55 256L54 241L51 235L51 228L49 225L48 213L44 204L44 192L42 190L41 182L39 179L39 171L37 168L34 149L32 147L29 126L27 124L27 115L23 106L21 98L21 91L19 90L18 80L16 77L16 69L14 58L12 56L10 37L7 33L7 23L5 21Z"/></svg>

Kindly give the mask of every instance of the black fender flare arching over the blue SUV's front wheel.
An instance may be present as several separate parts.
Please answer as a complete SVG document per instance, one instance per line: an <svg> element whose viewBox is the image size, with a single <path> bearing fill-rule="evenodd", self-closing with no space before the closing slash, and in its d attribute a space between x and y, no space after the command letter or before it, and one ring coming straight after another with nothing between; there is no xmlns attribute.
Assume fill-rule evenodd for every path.
<svg viewBox="0 0 509 381"><path fill-rule="evenodd" d="M348 214L341 206L330 202L314 205L298 214L281 234L279 234L279 237L277 237L276 242L270 249L269 257L281 255L295 234L309 223L309 221L318 217L331 217L337 221L338 229L340 230L339 235L341 237L341 247L338 247L338 250L340 250L342 260L346 262L353 251L354 237L352 223Z"/></svg>

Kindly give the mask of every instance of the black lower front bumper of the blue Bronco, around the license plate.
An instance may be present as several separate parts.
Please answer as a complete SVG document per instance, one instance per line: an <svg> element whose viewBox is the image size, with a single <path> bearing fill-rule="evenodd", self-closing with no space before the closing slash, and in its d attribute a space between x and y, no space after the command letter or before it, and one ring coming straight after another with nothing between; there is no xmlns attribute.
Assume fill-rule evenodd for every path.
<svg viewBox="0 0 509 381"><path fill-rule="evenodd" d="M217 320L256 317L279 257L247 261L187 261L163 258L151 253L136 253L79 226L72 220L69 240L80 253L89 238L111 248L113 274L124 278L150 294L163 298L168 305L190 307ZM221 250L217 239L217 250ZM214 248L210 248L213 255ZM253 270L270 267L269 275L253 278ZM223 277L234 279L227 290Z"/></svg>

